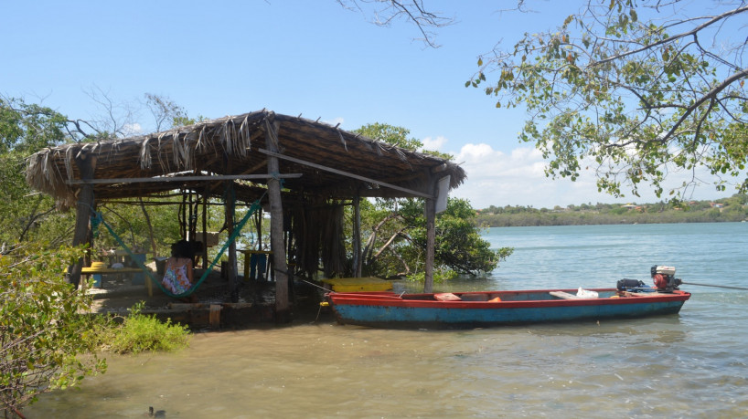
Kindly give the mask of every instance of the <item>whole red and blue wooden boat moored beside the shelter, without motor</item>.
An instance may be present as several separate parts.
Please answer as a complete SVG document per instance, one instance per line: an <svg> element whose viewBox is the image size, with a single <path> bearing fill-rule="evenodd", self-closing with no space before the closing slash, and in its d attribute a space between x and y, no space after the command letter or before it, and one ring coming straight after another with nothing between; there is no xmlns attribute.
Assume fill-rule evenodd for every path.
<svg viewBox="0 0 748 419"><path fill-rule="evenodd" d="M342 324L391 329L469 329L558 321L629 319L677 314L690 294L592 289L478 291L444 294L331 292L327 299ZM453 300L440 300L453 299Z"/></svg>

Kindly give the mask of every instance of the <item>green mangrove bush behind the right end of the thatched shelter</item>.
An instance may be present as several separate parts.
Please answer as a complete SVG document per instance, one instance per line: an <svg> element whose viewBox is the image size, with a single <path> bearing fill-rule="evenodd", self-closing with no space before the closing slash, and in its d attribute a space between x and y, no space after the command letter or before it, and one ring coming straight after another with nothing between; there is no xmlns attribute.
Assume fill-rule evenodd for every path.
<svg viewBox="0 0 748 419"><path fill-rule="evenodd" d="M422 141L408 138L410 131L383 123L368 124L356 132L409 150L421 150ZM446 159L441 152L422 151ZM378 199L361 203L362 230L369 235L363 245L365 275L407 276L422 280L426 251L426 219L422 199ZM450 198L447 209L436 216L434 274L437 280L455 274L490 272L511 255L511 247L497 250L481 238L476 210L465 199Z"/></svg>

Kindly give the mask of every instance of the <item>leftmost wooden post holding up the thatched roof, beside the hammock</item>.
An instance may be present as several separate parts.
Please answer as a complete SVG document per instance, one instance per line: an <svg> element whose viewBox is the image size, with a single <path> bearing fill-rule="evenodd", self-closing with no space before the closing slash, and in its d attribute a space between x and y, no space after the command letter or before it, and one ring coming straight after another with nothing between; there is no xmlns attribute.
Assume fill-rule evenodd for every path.
<svg viewBox="0 0 748 419"><path fill-rule="evenodd" d="M95 156L88 154L87 152L80 152L80 154L75 158L75 164L78 166L81 179L93 179L93 172L96 170ZM80 246L88 242L89 223L91 221L93 205L93 185L91 183L81 184L80 192L78 194L78 203L76 205L73 246ZM75 285L76 288L80 285L80 269L82 268L82 257L69 268L69 283Z"/></svg>

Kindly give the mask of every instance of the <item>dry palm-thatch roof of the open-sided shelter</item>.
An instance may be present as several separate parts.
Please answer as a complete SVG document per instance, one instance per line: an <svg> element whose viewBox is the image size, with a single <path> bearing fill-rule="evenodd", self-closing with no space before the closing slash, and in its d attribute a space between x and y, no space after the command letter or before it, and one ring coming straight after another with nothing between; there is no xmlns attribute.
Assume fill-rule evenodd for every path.
<svg viewBox="0 0 748 419"><path fill-rule="evenodd" d="M269 155L278 157L280 173L268 173ZM86 156L95 158L91 180L81 179L75 162ZM75 204L82 183L93 183L96 201L105 202L178 189L219 197L218 185L232 180L239 186L237 198L249 201L269 176L283 178L285 190L326 198L431 196L434 178L450 175L451 188L465 180L454 162L268 110L143 136L59 145L30 156L26 175L63 209Z"/></svg>

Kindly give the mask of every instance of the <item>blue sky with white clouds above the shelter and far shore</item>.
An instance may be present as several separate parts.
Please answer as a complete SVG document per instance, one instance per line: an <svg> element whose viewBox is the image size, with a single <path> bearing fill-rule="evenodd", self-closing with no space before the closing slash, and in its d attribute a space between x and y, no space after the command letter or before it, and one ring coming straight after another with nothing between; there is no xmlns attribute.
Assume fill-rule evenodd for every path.
<svg viewBox="0 0 748 419"><path fill-rule="evenodd" d="M479 54L557 26L577 5L538 2L540 13L522 15L498 12L513 0L425 3L457 21L437 31L436 49L414 40L411 24L375 26L335 0L0 0L0 94L76 119L101 117L87 94L95 89L116 103L163 95L193 117L266 108L347 130L399 125L463 164L468 179L453 195L476 208L657 201L598 194L589 173L546 178L540 153L518 142L522 110L497 110L465 88ZM153 130L146 111L132 121ZM730 194L706 184L692 197Z"/></svg>

